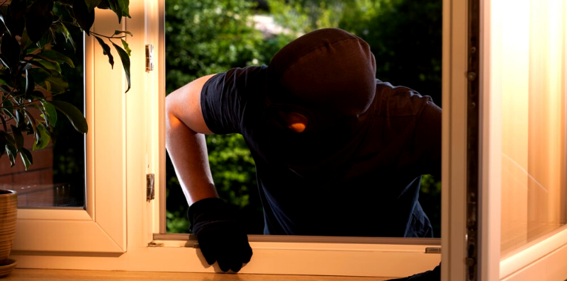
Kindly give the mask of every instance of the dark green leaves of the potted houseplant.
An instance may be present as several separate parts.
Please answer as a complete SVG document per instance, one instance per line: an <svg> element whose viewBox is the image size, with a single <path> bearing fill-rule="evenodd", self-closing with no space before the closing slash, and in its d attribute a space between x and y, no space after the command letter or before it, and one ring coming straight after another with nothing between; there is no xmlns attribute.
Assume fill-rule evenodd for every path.
<svg viewBox="0 0 567 281"><path fill-rule="evenodd" d="M123 16L129 17L128 4L128 0L13 0L0 4L0 157L6 153L11 166L16 164L18 154L26 169L33 164L30 152L24 148L23 133L33 134L33 149L46 147L54 136L57 110L78 132L88 130L75 105L52 100L69 90L67 77L74 76L74 71L63 65L74 68L77 64L60 47L70 45L75 49L75 42L82 40L81 33L69 29L81 28L93 35L108 57L110 48L101 37L110 41L123 62L130 89L129 51L123 48L129 49L122 38L131 33L117 31L105 36L89 31L95 7L111 8L120 21ZM114 44L114 39L120 39L123 47ZM35 117L38 115L40 118Z"/></svg>

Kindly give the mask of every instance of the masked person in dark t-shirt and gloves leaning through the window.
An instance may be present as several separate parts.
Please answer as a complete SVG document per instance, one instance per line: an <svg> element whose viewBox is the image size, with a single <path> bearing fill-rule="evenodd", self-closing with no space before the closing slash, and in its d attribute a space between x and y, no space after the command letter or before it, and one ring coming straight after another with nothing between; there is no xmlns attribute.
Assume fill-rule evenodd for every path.
<svg viewBox="0 0 567 281"><path fill-rule="evenodd" d="M238 271L252 249L218 198L204 134L238 133L256 165L264 234L432 237L418 194L440 176L442 110L376 79L369 45L307 33L268 66L203 76L166 99L166 145L209 264Z"/></svg>

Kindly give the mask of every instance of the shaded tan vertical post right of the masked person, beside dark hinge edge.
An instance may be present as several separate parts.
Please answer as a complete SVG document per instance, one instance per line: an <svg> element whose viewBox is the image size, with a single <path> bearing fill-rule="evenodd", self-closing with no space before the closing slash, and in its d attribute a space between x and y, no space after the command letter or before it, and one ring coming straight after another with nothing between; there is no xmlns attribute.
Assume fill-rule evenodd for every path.
<svg viewBox="0 0 567 281"><path fill-rule="evenodd" d="M443 1L442 280L464 280L466 257L466 1Z"/></svg>

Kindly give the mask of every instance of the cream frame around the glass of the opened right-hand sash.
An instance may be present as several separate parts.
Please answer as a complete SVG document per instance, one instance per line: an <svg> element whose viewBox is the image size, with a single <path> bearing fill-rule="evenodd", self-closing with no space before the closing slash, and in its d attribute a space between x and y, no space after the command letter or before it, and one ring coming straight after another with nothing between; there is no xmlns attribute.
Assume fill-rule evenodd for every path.
<svg viewBox="0 0 567 281"><path fill-rule="evenodd" d="M512 253L500 255L502 97L500 80L505 66L493 62L502 56L502 32L499 21L505 5L512 1L481 1L481 88L483 158L481 217L483 280L565 280L567 278L567 226L562 226ZM563 8L567 8L563 4ZM563 22L566 22L563 19ZM564 36L563 40L567 40ZM566 41L567 42L567 41ZM563 59L566 59L563 55ZM567 62L567 59L566 59ZM567 69L564 71L567 73ZM567 75L567 74L566 74Z"/></svg>

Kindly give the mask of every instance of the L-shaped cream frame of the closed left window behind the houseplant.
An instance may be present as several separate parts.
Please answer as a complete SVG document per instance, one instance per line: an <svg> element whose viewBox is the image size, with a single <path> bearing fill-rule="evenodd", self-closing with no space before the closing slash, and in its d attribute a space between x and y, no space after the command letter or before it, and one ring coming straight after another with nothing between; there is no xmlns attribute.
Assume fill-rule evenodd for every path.
<svg viewBox="0 0 567 281"><path fill-rule="evenodd" d="M113 13L96 15L92 30L97 33L124 29L109 24L116 22ZM125 79L118 56L111 70L91 36L85 40L85 58L86 210L18 210L13 253L125 251Z"/></svg>

